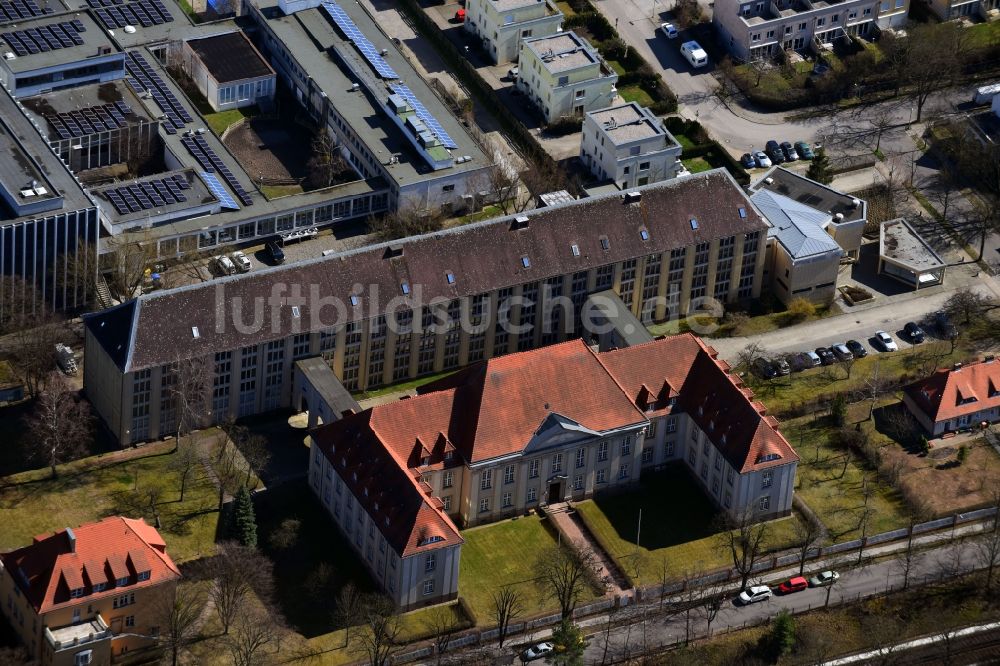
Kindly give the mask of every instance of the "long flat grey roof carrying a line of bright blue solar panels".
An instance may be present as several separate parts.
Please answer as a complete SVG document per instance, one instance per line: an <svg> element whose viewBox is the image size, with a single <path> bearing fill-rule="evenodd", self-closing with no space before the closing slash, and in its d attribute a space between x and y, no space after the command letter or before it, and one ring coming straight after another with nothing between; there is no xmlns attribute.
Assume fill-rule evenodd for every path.
<svg viewBox="0 0 1000 666"><path fill-rule="evenodd" d="M361 91L352 92L358 79L345 72L337 60L329 53L336 48L349 58L352 66L371 72L368 64L358 55L350 42L343 39L334 29L332 22L321 9L304 9L290 16L284 16L278 9L276 0L260 3L262 14L270 17L268 27L284 44L299 66L308 72L313 82L328 96L330 103L364 142L368 150L383 165L383 169L400 187L430 178L441 178L474 171L489 166L490 159L469 135L468 130L451 111L438 99L431 87L414 71L409 62L399 53L392 40L382 32L378 24L356 2L341 3L341 8L350 16L358 28L372 42L376 50L385 50L386 62L399 74L414 95L455 140L457 148L451 152L456 157L468 156L472 159L456 162L451 167L433 171L426 161L411 147L410 142L389 119L382 106L384 99L373 101ZM371 77L373 79L374 74ZM382 97L391 94L385 83L377 89ZM365 86L362 86L364 89ZM389 164L393 155L402 155L396 164Z"/></svg>

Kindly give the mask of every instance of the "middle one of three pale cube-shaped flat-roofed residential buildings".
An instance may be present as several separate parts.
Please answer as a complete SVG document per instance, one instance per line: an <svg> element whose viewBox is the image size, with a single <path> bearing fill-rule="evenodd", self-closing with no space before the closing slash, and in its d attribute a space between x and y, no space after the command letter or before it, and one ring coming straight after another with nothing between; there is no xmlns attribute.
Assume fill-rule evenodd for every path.
<svg viewBox="0 0 1000 666"><path fill-rule="evenodd" d="M523 40L520 70L517 85L546 123L607 108L618 94L618 75L575 32Z"/></svg>

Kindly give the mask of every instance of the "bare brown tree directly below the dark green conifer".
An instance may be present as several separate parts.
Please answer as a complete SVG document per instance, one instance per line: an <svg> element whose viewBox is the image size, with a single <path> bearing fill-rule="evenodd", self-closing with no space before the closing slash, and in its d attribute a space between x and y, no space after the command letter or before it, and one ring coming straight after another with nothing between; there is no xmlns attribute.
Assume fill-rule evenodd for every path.
<svg viewBox="0 0 1000 666"><path fill-rule="evenodd" d="M274 573L271 562L253 548L229 542L222 544L220 551L210 561L207 573L214 579L209 597L226 635L254 594L262 603L270 601Z"/></svg>

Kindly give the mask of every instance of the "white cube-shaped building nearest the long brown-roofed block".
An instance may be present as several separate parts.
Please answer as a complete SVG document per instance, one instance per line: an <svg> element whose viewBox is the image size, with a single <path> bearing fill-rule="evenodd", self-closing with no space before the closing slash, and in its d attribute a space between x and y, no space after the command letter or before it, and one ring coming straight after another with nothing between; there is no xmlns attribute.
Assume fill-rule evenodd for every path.
<svg viewBox="0 0 1000 666"><path fill-rule="evenodd" d="M663 121L636 102L591 111L583 120L580 159L622 190L677 176L681 150Z"/></svg>

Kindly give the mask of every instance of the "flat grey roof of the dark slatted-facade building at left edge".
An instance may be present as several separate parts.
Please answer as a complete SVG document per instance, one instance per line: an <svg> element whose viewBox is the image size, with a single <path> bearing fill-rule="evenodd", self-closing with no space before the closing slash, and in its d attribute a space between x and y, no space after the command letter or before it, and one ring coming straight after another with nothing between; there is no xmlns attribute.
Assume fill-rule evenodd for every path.
<svg viewBox="0 0 1000 666"><path fill-rule="evenodd" d="M66 165L46 145L6 90L0 92L0 142L4 156L0 159L0 182L8 192L16 196L25 185L36 180L49 192L62 196L63 210L93 207ZM5 206L0 206L0 225L52 215L53 212L15 217Z"/></svg>

